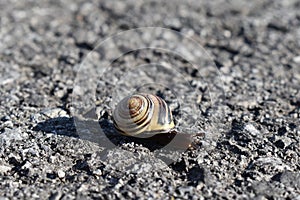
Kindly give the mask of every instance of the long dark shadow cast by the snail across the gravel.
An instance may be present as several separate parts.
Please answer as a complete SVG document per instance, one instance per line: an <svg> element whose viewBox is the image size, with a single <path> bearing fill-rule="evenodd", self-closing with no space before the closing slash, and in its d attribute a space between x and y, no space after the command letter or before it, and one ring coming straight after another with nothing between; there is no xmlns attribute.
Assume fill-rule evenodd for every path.
<svg viewBox="0 0 300 200"><path fill-rule="evenodd" d="M76 126L75 126L76 122ZM117 133L113 124L108 119L79 120L69 117L57 117L39 122L34 131L43 131L54 135L63 135L68 137L80 138L97 143L104 148L114 148L124 143L141 144L150 151L160 149L167 145L175 136L170 133L167 137L158 134L151 138L127 137Z"/></svg>

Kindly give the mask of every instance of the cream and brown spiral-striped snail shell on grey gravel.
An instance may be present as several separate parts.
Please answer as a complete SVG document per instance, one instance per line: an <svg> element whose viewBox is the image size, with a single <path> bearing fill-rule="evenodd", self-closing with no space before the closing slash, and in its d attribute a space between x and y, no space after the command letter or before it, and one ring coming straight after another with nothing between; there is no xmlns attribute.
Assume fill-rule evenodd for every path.
<svg viewBox="0 0 300 200"><path fill-rule="evenodd" d="M175 126L167 103L145 93L122 99L113 112L113 121L116 129L128 136L167 133Z"/></svg>

